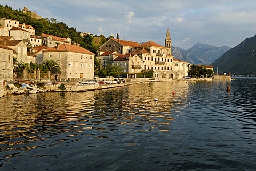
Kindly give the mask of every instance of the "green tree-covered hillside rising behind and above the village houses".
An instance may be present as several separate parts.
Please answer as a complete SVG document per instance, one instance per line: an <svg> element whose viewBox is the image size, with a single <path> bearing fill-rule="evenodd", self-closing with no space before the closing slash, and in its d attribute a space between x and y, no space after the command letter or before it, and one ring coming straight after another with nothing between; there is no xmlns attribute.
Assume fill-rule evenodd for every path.
<svg viewBox="0 0 256 171"><path fill-rule="evenodd" d="M104 35L86 35L84 37L81 37L81 32L78 32L76 28L68 27L67 24L63 22L58 22L54 18L35 19L32 18L29 14L23 13L22 10L13 10L12 7L9 7L7 5L0 5L0 18L13 19L19 21L20 23L32 25L36 30L35 34L37 36L40 36L41 33L46 33L58 37L70 37L72 42L79 43L82 47L90 50L93 53L95 53L99 47L99 45L94 44L94 38L101 39L100 45L106 42L109 38L113 38L112 36L105 38Z"/></svg>

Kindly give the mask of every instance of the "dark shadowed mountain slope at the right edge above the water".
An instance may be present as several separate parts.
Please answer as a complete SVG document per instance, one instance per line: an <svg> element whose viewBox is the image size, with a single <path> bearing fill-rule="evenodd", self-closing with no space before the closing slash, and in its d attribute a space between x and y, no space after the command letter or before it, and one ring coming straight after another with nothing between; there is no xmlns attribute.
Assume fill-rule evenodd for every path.
<svg viewBox="0 0 256 171"><path fill-rule="evenodd" d="M256 35L246 38L236 47L221 55L211 65L219 72L250 75L256 74Z"/></svg>

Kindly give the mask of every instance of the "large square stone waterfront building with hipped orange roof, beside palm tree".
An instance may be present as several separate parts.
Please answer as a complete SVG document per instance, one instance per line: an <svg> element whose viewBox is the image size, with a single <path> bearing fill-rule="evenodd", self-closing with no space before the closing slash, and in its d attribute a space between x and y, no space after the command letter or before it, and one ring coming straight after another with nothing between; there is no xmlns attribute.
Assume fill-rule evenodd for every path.
<svg viewBox="0 0 256 171"><path fill-rule="evenodd" d="M52 59L58 62L62 80L94 79L94 56L89 50L71 44L57 44L43 50L43 61Z"/></svg>

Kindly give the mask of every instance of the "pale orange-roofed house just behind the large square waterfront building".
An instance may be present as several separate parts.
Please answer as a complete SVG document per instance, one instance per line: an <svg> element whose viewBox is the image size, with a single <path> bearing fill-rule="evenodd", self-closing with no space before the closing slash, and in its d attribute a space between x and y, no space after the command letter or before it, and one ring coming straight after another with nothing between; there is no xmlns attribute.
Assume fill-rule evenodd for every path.
<svg viewBox="0 0 256 171"><path fill-rule="evenodd" d="M54 35L47 35L42 33L41 34L42 45L46 47L54 47L57 44L71 44L71 39L67 38L60 38Z"/></svg>

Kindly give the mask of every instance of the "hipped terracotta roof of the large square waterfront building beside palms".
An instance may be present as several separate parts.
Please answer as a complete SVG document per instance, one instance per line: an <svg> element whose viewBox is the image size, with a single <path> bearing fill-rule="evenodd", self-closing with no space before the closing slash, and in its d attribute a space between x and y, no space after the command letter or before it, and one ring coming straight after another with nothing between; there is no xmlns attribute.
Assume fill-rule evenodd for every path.
<svg viewBox="0 0 256 171"><path fill-rule="evenodd" d="M81 46L70 45L70 44L60 44L59 49L57 49L57 46L55 46L55 47L43 50L43 52L63 52L63 51L95 55L91 51L89 51Z"/></svg>

